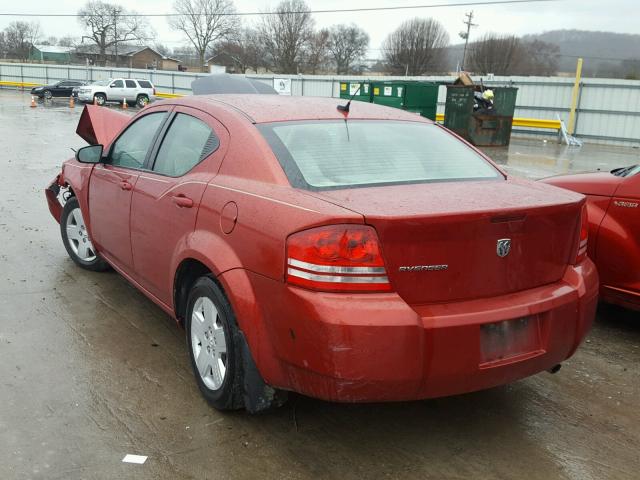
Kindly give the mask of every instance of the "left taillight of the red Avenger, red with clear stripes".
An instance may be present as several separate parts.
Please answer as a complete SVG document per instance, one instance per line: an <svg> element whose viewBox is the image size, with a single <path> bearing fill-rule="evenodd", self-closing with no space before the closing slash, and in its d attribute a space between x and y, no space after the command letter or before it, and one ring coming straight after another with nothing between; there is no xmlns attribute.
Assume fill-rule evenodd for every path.
<svg viewBox="0 0 640 480"><path fill-rule="evenodd" d="M367 225L328 225L291 235L286 278L312 290L391 290L378 235Z"/></svg>

